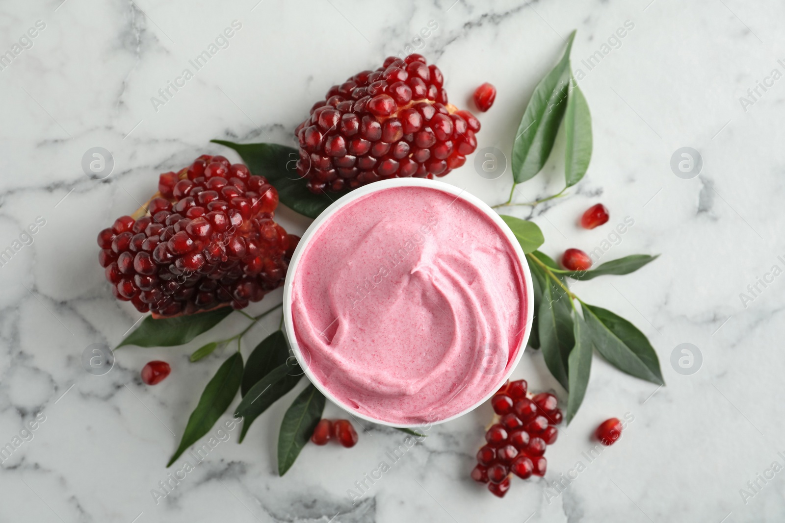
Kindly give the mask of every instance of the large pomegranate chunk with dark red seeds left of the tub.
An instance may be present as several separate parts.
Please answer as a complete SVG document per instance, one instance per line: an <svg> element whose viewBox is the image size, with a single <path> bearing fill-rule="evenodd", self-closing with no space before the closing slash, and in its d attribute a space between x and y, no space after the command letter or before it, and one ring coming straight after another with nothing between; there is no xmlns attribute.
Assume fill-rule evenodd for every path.
<svg viewBox="0 0 785 523"><path fill-rule="evenodd" d="M98 234L98 261L118 300L168 317L276 289L299 238L272 220L278 192L245 165L200 156L163 173L147 214L121 216Z"/></svg>

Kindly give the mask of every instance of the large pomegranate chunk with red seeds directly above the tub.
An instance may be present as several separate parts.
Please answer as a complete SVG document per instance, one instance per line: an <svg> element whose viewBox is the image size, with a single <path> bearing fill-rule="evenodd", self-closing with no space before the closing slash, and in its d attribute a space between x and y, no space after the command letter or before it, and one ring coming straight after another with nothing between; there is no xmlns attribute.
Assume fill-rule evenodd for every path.
<svg viewBox="0 0 785 523"><path fill-rule="evenodd" d="M298 125L298 173L314 193L386 178L444 176L477 147L480 122L447 104L444 77L425 58L389 56L376 71L333 85Z"/></svg>

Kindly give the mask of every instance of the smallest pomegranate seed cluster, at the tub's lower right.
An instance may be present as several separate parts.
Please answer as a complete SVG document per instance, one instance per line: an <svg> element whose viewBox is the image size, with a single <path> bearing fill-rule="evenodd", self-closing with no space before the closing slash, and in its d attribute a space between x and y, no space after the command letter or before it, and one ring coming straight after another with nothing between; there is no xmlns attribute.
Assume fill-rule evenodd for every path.
<svg viewBox="0 0 785 523"><path fill-rule="evenodd" d="M528 394L525 380L505 384L491 398L494 422L477 452L472 479L487 483L495 496L504 497L511 474L528 479L544 476L546 445L556 442L563 419L553 394Z"/></svg>

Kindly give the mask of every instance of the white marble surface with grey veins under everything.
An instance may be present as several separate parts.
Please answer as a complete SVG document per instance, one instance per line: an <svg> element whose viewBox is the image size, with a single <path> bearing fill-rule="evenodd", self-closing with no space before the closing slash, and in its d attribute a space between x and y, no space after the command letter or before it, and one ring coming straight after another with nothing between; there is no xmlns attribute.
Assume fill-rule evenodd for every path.
<svg viewBox="0 0 785 523"><path fill-rule="evenodd" d="M754 493L747 481L772 462L785 464L778 455L785 451L785 277L759 286L747 307L739 300L772 265L785 267L777 259L785 255L785 80L759 89L751 106L739 102L772 69L785 72L777 62L785 59L783 15L773 0L4 2L0 51L36 20L46 27L0 71L0 248L37 216L46 225L0 267L0 444L36 413L46 420L2 463L0 521L783 521L785 473L759 481L746 503L739 494ZM151 96L232 20L242 28L228 48L155 111ZM221 361L190 364L187 354L217 334L188 347L126 347L107 375L86 373L85 347L114 345L140 317L109 294L96 262L97 231L136 209L158 173L203 152L227 154L212 138L290 143L330 85L399 53L429 20L439 27L422 53L444 71L453 103L465 104L482 82L497 86L478 138L480 147L506 152L562 39L578 29L573 61L587 72L580 60L633 22L620 47L581 81L594 129L586 179L532 216L551 255L589 250L609 230L582 231L575 219L601 201L611 223L635 221L608 259L662 253L637 274L575 290L650 337L667 386L657 390L595 357L579 416L547 453L545 480L513 480L501 500L468 478L487 405L434 427L352 507L346 490L403 434L367 427L351 450L311 445L278 478L282 401L243 445L233 432L156 505L150 491L166 478L164 464ZM96 146L115 158L104 181L80 167ZM684 146L703 154L703 173L692 180L669 166ZM560 173L561 162L550 162L518 198L553 194ZM509 174L484 180L470 163L444 180L489 203L502 202L510 183ZM510 212L529 216L524 207ZM279 219L293 231L308 223L286 209ZM254 311L276 300L279 292ZM243 324L233 318L219 330L231 335ZM263 333L250 335L245 354ZM671 351L685 342L703 354L692 376L670 365ZM145 387L139 370L154 358L170 361L172 376ZM527 350L514 376L565 398L537 351ZM588 463L582 452L593 446L593 427L625 412L634 422L622 440ZM328 405L326 414L339 411ZM548 481L579 460L586 470L547 499Z"/></svg>

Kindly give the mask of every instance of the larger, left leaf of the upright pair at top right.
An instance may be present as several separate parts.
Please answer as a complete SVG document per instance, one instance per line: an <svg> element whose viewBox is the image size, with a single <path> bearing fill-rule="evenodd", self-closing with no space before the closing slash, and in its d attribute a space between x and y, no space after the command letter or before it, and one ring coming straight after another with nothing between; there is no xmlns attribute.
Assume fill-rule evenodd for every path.
<svg viewBox="0 0 785 523"><path fill-rule="evenodd" d="M561 118L567 108L571 76L570 49L575 39L572 31L567 49L556 67L535 87L524 111L513 143L513 180L525 182L542 170L553 149Z"/></svg>

